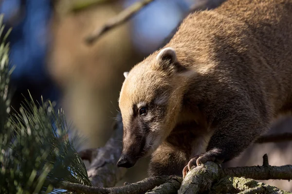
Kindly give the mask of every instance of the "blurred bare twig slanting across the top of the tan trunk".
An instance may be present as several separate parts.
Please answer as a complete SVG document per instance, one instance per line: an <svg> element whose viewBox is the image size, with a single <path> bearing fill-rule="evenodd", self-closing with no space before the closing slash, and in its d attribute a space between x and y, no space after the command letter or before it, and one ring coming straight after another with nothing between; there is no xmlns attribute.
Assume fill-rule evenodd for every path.
<svg viewBox="0 0 292 194"><path fill-rule="evenodd" d="M123 10L117 16L111 18L104 26L95 30L91 35L86 37L85 42L88 45L94 43L101 35L105 32L108 32L110 29L113 29L124 22L128 21L129 18L135 16L142 8L148 5L150 2L154 0L142 0L132 4L127 9Z"/></svg>

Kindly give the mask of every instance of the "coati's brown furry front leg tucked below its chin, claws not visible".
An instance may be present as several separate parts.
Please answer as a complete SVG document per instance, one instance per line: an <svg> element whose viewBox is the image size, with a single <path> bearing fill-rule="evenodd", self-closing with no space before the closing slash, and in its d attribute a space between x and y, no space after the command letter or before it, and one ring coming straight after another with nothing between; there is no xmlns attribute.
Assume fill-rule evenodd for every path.
<svg viewBox="0 0 292 194"><path fill-rule="evenodd" d="M171 144L163 143L152 154L148 167L148 176L178 175L182 176L182 169L189 157L183 150Z"/></svg>

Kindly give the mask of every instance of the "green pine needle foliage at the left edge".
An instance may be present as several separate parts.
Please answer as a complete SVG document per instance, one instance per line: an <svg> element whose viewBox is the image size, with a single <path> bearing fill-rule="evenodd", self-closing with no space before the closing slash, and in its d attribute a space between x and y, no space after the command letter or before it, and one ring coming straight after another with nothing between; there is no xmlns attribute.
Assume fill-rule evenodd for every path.
<svg viewBox="0 0 292 194"><path fill-rule="evenodd" d="M4 26L0 16L0 37ZM59 181L91 185L84 163L68 137L62 110L50 101L37 108L26 100L19 114L9 115L9 44L0 43L0 193L65 193Z"/></svg>

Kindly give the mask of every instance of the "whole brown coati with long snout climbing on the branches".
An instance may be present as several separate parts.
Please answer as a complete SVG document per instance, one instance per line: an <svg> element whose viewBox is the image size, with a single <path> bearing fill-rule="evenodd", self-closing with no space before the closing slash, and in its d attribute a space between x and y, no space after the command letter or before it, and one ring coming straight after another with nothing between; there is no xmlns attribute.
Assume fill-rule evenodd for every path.
<svg viewBox="0 0 292 194"><path fill-rule="evenodd" d="M187 16L124 74L118 167L152 154L149 176L237 157L292 110L292 0L227 0Z"/></svg>

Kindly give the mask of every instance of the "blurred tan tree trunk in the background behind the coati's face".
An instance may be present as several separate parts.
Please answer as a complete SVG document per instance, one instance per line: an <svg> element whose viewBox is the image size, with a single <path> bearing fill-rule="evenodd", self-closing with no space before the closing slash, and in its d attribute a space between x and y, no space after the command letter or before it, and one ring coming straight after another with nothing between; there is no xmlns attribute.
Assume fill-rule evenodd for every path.
<svg viewBox="0 0 292 194"><path fill-rule="evenodd" d="M55 6L62 10L64 3ZM131 46L128 24L105 34L94 46L84 44L87 34L120 10L110 0L77 13L56 12L52 20L48 67L63 89L62 106L68 120L88 138L85 147L103 146L110 137L112 131L107 129L117 113L123 72L140 60Z"/></svg>

